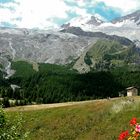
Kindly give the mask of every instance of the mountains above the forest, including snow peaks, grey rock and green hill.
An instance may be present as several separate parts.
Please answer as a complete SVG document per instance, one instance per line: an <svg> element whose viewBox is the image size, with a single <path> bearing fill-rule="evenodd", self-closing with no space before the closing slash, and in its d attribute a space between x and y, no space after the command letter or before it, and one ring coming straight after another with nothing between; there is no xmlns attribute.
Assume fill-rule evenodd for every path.
<svg viewBox="0 0 140 140"><path fill-rule="evenodd" d="M78 17L58 31L0 28L0 69L9 78L11 62L70 64L79 72L140 63L140 11L110 22Z"/></svg>

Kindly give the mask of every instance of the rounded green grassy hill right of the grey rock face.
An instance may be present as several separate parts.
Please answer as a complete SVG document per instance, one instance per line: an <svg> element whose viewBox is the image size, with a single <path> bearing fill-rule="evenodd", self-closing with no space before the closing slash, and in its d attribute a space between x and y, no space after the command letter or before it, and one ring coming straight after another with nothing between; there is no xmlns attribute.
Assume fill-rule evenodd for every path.
<svg viewBox="0 0 140 140"><path fill-rule="evenodd" d="M85 56L85 62L88 65L92 65L92 62L96 64L104 62L102 65L109 62L117 67L126 67L126 64L130 63L132 67L136 60L140 60L140 54L135 48L107 40L98 40Z"/></svg>

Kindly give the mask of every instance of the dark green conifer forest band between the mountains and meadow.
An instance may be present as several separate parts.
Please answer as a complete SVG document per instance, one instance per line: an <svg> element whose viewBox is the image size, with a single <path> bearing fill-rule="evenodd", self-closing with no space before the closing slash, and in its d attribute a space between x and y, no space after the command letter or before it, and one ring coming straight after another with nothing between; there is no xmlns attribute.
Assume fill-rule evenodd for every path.
<svg viewBox="0 0 140 140"><path fill-rule="evenodd" d="M140 85L140 71L123 68L79 74L67 66L12 62L16 73L8 80L0 74L0 101L5 107L117 97L132 85ZM20 88L14 91L11 84Z"/></svg>

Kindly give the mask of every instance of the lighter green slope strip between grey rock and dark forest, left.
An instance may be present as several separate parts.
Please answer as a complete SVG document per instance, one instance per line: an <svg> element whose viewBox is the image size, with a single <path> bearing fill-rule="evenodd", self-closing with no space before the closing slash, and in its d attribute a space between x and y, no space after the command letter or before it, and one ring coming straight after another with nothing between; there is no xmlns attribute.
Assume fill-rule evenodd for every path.
<svg viewBox="0 0 140 140"><path fill-rule="evenodd" d="M26 61L12 62L12 69L16 70L14 76L16 77L30 77L38 71L41 72L53 72L53 73L73 73L75 71L69 70L66 66L60 66L55 64L43 64Z"/></svg>

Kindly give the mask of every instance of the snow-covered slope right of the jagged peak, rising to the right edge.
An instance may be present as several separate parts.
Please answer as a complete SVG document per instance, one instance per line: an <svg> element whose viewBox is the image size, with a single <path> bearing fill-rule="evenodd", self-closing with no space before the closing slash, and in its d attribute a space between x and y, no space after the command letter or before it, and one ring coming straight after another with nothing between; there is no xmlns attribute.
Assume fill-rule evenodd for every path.
<svg viewBox="0 0 140 140"><path fill-rule="evenodd" d="M103 23L93 28L92 31L101 31L109 35L127 37L132 41L140 41L140 11L115 19L112 22Z"/></svg>

